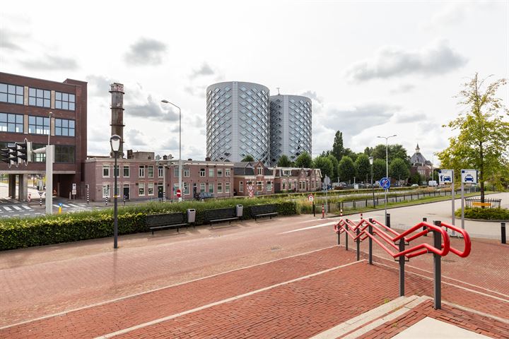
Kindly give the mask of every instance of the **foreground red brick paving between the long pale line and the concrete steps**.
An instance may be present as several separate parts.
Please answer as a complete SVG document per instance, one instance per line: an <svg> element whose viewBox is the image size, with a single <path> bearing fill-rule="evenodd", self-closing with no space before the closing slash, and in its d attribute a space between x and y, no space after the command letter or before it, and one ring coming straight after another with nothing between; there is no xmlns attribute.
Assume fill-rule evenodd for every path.
<svg viewBox="0 0 509 339"><path fill-rule="evenodd" d="M0 337L52 338L59 333L62 338L94 338L175 315L118 337L308 338L397 297L397 270L361 261L222 304L209 304L354 260L353 251L334 247L6 328ZM432 295L431 280L407 274L406 295L414 294ZM443 299L500 317L509 312L509 300L452 285L443 285ZM204 305L209 306L178 315ZM490 331L486 326L481 329Z"/></svg>

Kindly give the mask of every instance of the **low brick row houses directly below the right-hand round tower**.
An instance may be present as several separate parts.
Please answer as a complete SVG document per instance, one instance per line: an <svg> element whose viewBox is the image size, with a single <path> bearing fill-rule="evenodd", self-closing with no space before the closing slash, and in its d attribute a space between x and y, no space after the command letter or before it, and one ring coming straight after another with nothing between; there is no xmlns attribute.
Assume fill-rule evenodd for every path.
<svg viewBox="0 0 509 339"><path fill-rule="evenodd" d="M322 189L319 168L274 167L274 189L279 192L307 192Z"/></svg>

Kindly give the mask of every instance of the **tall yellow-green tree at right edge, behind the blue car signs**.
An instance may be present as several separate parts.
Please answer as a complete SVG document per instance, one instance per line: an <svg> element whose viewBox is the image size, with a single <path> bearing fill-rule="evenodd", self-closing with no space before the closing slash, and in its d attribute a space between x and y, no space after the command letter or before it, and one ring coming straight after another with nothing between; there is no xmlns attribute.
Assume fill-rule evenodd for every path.
<svg viewBox="0 0 509 339"><path fill-rule="evenodd" d="M509 110L496 97L507 79L498 79L483 89L487 79L479 80L475 73L474 78L464 83L457 97L467 112L443 126L460 133L449 138L449 147L438 153L443 168L452 167L456 173L468 167L479 171L481 202L484 202L484 180L495 178L508 166L509 147L509 123L503 120L503 113L509 115Z"/></svg>

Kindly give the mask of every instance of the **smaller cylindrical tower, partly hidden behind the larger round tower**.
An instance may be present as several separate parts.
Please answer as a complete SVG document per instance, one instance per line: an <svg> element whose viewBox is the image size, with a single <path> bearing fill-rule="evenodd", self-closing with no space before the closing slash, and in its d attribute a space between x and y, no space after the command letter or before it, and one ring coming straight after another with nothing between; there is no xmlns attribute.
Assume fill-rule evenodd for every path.
<svg viewBox="0 0 509 339"><path fill-rule="evenodd" d="M281 155L291 161L308 152L311 155L311 99L301 95L272 95L270 97L270 154L271 165Z"/></svg>

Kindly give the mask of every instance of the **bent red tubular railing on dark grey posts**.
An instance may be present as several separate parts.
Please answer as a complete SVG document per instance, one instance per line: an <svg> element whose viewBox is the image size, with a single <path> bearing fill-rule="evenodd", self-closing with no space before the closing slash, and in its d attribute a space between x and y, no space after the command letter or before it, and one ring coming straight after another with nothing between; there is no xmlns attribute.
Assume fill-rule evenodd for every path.
<svg viewBox="0 0 509 339"><path fill-rule="evenodd" d="M458 232L464 240L464 248L455 249L450 244L449 234L447 230ZM334 225L334 232L338 234L338 244L341 244L341 233L345 234L345 248L349 249L349 237L356 242L357 260L360 259L361 242L368 239L368 263L373 265L373 242L378 244L392 258L399 261L399 295L404 296L404 263L410 258L421 256L423 254L433 254L433 274L434 274L434 299L435 309L442 307L442 291L441 291L441 258L452 253L466 258L472 249L472 243L467 231L457 228L454 225L441 221L435 221L433 224L428 222L419 222L419 224L410 227L402 233L398 233L392 228L383 225L378 220L370 218L365 220L362 218L359 222L353 222L349 219L340 219ZM410 247L410 242L427 236L428 233L433 234L433 244L426 242L416 244Z"/></svg>

